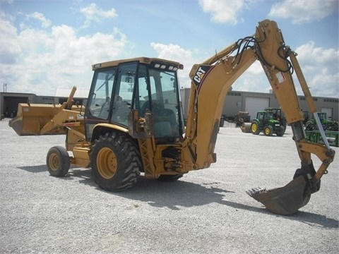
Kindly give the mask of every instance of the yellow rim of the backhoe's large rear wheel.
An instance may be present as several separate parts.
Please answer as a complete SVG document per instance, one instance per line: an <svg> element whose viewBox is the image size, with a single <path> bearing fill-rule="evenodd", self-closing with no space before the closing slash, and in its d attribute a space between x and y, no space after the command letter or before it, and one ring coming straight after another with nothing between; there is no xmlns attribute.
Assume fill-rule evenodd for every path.
<svg viewBox="0 0 339 254"><path fill-rule="evenodd" d="M111 179L117 171L117 157L107 147L102 148L97 154L97 171L105 179Z"/></svg>

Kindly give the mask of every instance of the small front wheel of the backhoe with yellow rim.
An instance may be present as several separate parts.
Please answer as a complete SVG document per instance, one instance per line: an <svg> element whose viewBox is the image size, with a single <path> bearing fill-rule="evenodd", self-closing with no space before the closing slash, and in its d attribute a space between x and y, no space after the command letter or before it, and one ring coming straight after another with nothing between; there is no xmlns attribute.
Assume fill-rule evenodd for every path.
<svg viewBox="0 0 339 254"><path fill-rule="evenodd" d="M50 148L47 152L46 164L51 176L66 176L71 166L66 148L59 145Z"/></svg>

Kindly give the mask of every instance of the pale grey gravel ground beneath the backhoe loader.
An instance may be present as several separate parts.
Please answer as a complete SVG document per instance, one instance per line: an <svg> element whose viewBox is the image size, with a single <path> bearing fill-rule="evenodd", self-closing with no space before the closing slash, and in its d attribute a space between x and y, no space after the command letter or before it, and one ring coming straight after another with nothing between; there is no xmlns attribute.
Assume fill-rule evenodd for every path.
<svg viewBox="0 0 339 254"><path fill-rule="evenodd" d="M63 135L19 137L4 119L0 137L0 253L339 253L338 147L321 190L292 216L245 193L292 179L289 127L282 138L220 128L209 169L174 183L141 176L124 193L102 191L90 169L49 176L47 151Z"/></svg>

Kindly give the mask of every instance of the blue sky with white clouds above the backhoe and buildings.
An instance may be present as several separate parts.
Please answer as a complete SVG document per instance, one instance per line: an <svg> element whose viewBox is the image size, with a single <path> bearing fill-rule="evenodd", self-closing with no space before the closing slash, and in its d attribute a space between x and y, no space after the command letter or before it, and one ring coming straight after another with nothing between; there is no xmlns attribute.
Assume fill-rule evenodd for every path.
<svg viewBox="0 0 339 254"><path fill-rule="evenodd" d="M184 64L253 35L261 20L278 23L297 52L313 96L339 97L338 0L0 0L1 92L54 96L89 90L91 65L138 56ZM298 95L302 90L295 79ZM0 87L2 88L2 87ZM256 61L232 90L269 92Z"/></svg>

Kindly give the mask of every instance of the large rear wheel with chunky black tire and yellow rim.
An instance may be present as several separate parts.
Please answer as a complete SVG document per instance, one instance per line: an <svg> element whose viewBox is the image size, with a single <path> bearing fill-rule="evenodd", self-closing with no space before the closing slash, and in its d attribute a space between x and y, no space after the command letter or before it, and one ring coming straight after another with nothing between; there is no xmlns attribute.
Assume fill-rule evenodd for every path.
<svg viewBox="0 0 339 254"><path fill-rule="evenodd" d="M105 191L131 188L142 167L137 145L129 136L115 132L95 140L90 161L95 182Z"/></svg>

